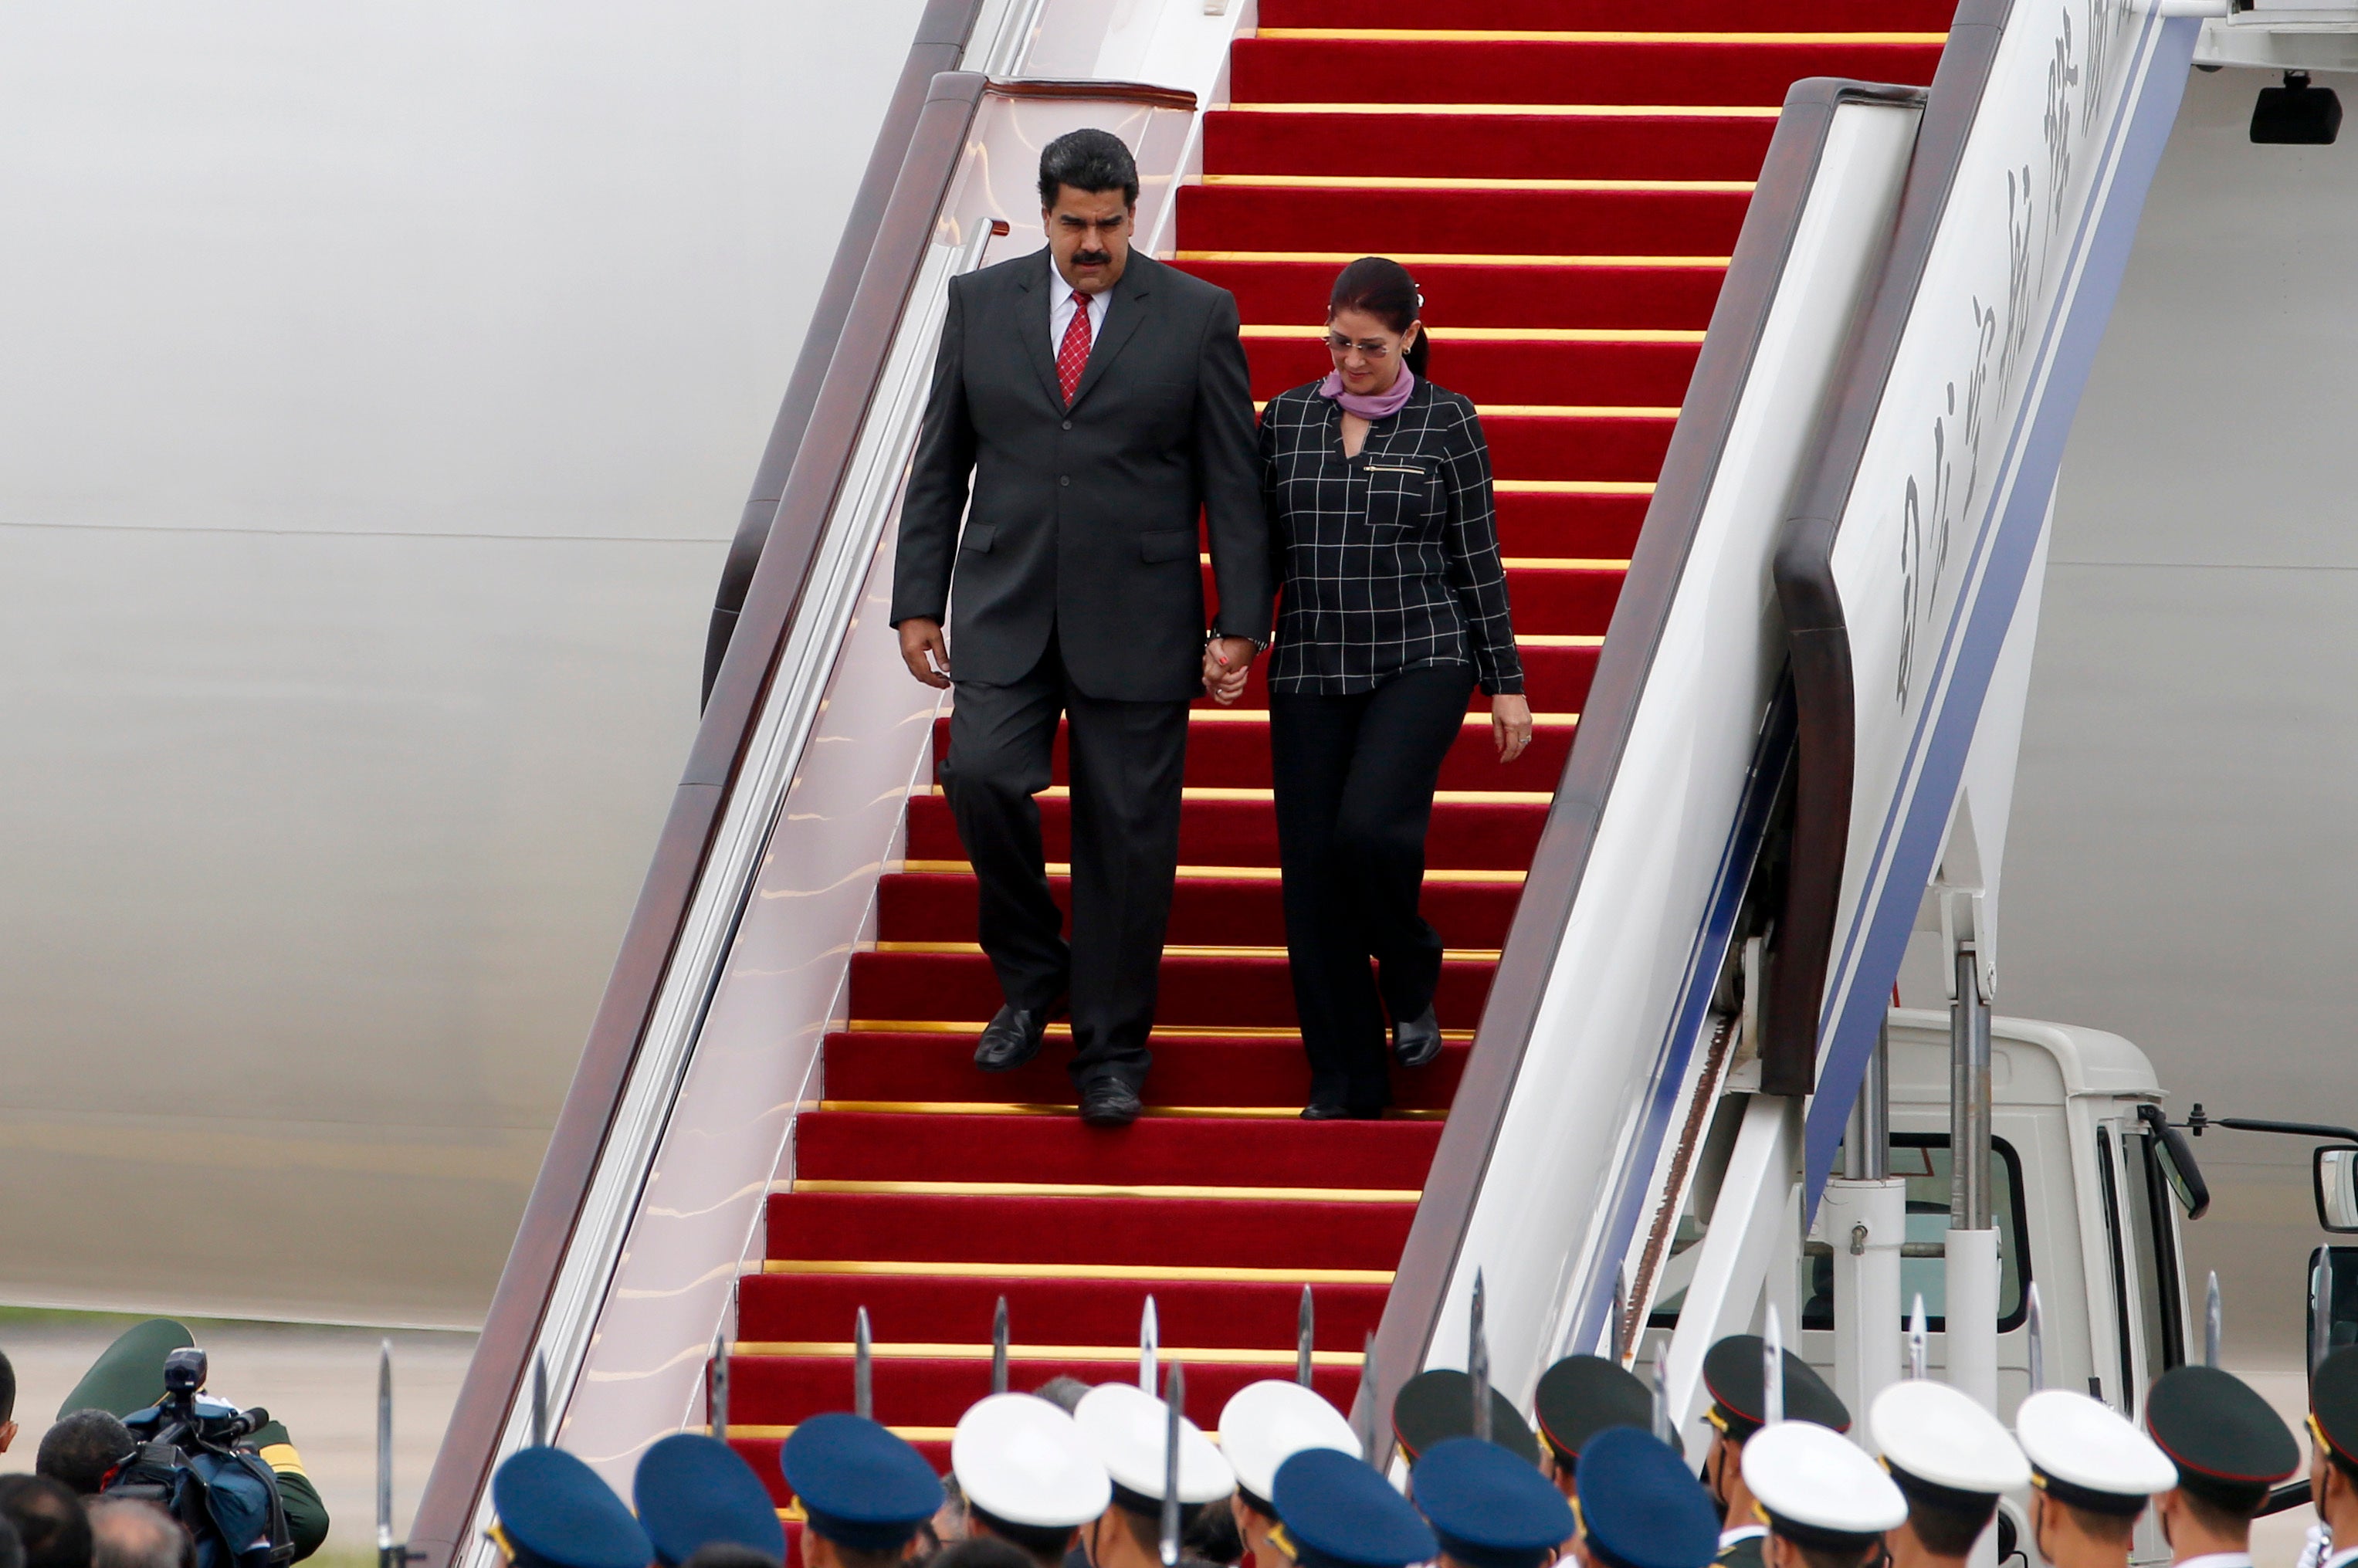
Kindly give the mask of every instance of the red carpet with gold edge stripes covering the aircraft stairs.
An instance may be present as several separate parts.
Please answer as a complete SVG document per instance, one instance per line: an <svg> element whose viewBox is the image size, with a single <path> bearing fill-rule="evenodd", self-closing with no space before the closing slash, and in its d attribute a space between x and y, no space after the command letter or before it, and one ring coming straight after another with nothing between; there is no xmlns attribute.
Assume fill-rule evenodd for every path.
<svg viewBox="0 0 2358 1568"><path fill-rule="evenodd" d="M854 1316L875 1327L875 1412L948 1467L990 1386L1005 1297L1014 1386L1137 1375L1155 1299L1207 1427L1287 1377L1311 1287L1318 1386L1349 1408L1467 1042L1507 938L1679 398L1785 87L1929 83L1938 0L1262 0L1231 50L1233 106L1179 191L1177 262L1236 292L1254 398L1320 377L1325 292L1356 255L1424 288L1431 373L1481 406L1514 625L1540 717L1500 766L1476 698L1441 778L1427 913L1450 948L1448 1047L1396 1073L1382 1122L1302 1122L1269 804L1266 684L1198 705L1148 1115L1073 1115L1059 1026L986 1078L997 986L974 877L936 792L908 811L877 938L851 960L851 1026L738 1287L731 1438L788 1504L776 1448L851 1403ZM936 757L948 724L936 726ZM1068 809L1042 797L1049 858ZM1052 865L1059 898L1063 868Z"/></svg>

